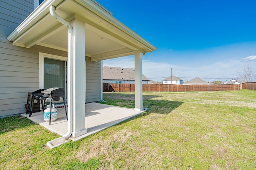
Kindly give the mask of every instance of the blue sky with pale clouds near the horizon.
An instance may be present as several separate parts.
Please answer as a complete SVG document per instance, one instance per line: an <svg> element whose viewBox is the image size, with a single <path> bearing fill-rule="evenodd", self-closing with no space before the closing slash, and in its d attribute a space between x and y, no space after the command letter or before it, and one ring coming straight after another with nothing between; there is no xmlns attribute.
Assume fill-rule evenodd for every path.
<svg viewBox="0 0 256 170"><path fill-rule="evenodd" d="M239 78L245 64L256 71L256 0L97 0L157 50L146 53L143 74L184 82ZM134 56L103 61L134 68Z"/></svg>

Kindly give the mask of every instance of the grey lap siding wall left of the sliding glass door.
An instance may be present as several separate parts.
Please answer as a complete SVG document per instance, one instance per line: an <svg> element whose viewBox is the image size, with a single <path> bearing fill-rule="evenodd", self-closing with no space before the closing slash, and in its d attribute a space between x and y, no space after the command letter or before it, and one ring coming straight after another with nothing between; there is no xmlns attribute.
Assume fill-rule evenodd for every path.
<svg viewBox="0 0 256 170"><path fill-rule="evenodd" d="M33 0L0 0L0 116L25 112L29 89L39 86L35 49L14 47L6 39L33 8Z"/></svg>

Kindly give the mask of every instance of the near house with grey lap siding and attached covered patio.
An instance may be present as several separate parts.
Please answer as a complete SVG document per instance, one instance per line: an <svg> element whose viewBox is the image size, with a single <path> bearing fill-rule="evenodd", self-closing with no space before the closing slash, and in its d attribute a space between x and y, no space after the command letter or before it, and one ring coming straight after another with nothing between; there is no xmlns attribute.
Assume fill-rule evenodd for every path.
<svg viewBox="0 0 256 170"><path fill-rule="evenodd" d="M63 87L80 136L84 104L102 100L102 61L129 55L143 110L142 54L156 47L95 0L0 0L0 11L0 117L24 113L28 92Z"/></svg>

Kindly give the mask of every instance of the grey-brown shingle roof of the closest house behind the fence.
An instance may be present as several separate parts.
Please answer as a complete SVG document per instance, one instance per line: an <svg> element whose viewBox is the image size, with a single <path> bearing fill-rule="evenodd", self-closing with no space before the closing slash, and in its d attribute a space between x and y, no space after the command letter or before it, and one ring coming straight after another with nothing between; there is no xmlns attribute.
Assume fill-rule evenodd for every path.
<svg viewBox="0 0 256 170"><path fill-rule="evenodd" d="M103 67L103 80L134 80L135 69L124 67ZM142 80L148 80L144 74L142 74ZM150 81L150 80L148 80Z"/></svg>

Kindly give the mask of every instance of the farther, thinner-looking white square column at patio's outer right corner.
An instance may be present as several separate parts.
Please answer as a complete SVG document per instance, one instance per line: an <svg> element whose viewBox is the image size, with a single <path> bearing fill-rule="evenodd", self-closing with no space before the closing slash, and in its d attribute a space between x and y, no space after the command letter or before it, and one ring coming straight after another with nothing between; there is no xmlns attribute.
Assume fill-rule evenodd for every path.
<svg viewBox="0 0 256 170"><path fill-rule="evenodd" d="M142 102L142 52L134 51L135 60L135 110L143 110Z"/></svg>

